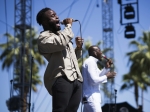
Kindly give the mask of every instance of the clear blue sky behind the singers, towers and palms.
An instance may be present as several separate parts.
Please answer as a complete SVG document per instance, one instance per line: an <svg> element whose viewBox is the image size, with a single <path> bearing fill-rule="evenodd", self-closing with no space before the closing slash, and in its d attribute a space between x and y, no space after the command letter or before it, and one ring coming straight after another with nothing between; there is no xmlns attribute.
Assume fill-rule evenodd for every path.
<svg viewBox="0 0 150 112"><path fill-rule="evenodd" d="M6 5L5 5L6 1ZM102 12L101 12L101 0L33 0L32 8L32 26L41 31L40 27L36 23L36 14L44 7L50 7L55 10L59 15L60 20L71 17L78 19L82 24L82 37L84 40L91 39L93 44L102 40ZM131 0L132 1L132 0ZM134 1L134 0L133 0ZM72 5L71 5L72 4ZM99 7L96 5L99 4ZM136 30L135 40L142 36L142 31L150 31L150 0L139 0L139 23L134 24ZM126 53L133 50L129 47L129 42L134 39L126 39L124 37L125 26L120 25L120 10L117 0L113 0L113 41L114 41L114 60L116 66L117 77L115 78L115 87L117 89L117 103L128 102L133 107L136 107L134 100L133 89L120 92L120 86L122 85L122 76L127 73L129 66L127 65ZM6 33L14 34L14 0L0 0L0 43L6 43L7 38L3 36ZM6 27L6 23L8 26ZM73 31L75 36L79 35L79 24L73 23ZM1 50L0 50L1 54ZM43 74L45 66L41 67L40 75L43 81ZM0 111L8 112L6 107L6 100L9 99L10 94L10 79L12 79L13 67L9 70L1 70L0 62ZM44 85L38 86L39 92L32 92L32 104L34 103L34 112L50 112L51 111L51 97L47 93ZM141 90L140 96L141 96ZM141 97L139 99L141 104ZM31 105L31 108L33 105ZM147 93L144 93L144 112L150 110L150 89ZM78 110L80 112L80 109Z"/></svg>

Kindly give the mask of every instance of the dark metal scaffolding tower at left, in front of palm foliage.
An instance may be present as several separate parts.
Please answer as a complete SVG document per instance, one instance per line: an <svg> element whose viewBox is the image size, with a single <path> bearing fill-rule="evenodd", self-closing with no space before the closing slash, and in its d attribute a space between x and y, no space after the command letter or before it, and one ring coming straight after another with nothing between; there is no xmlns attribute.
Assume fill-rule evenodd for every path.
<svg viewBox="0 0 150 112"><path fill-rule="evenodd" d="M29 59L29 53L26 52L25 43L27 43L27 30L30 30L31 36L31 20L32 20L32 0L15 0L15 16L14 16L14 26L15 32L15 48L19 48L19 57L16 59L17 62L14 64L14 81L12 88L12 97L14 95L14 90L16 90L19 98L18 112L26 112L28 107L30 107L29 97L30 97L30 74L28 74L25 60ZM16 41L18 40L18 41ZM31 44L29 45L31 47ZM31 63L30 60L28 60ZM30 66L30 64L29 64ZM17 79L17 81L16 81ZM15 94L16 94L15 93ZM30 108L28 110L30 112Z"/></svg>

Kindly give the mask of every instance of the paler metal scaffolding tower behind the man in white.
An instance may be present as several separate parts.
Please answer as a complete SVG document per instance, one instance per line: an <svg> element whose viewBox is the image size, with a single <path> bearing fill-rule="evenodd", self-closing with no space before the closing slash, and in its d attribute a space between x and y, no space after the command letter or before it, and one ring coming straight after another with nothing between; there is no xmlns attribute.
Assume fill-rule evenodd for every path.
<svg viewBox="0 0 150 112"><path fill-rule="evenodd" d="M114 59L114 42L113 42L113 0L102 0L102 40L103 49L111 49L106 56ZM114 99L114 80L111 79L106 88L110 95L105 97L105 102L113 103Z"/></svg>

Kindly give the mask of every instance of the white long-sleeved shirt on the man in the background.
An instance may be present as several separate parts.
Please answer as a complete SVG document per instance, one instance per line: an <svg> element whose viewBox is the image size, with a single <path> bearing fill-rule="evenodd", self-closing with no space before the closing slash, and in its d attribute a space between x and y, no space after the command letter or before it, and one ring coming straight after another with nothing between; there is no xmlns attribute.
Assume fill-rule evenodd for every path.
<svg viewBox="0 0 150 112"><path fill-rule="evenodd" d="M106 73L110 69L100 70L97 66L98 59L89 56L82 66L83 96L90 97L94 93L100 94L100 83L107 82Z"/></svg>

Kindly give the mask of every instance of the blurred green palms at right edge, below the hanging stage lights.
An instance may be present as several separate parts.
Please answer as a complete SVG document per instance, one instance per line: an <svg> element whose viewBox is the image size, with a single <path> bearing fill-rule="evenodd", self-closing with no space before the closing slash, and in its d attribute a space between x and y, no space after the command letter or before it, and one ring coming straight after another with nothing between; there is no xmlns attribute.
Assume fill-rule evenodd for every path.
<svg viewBox="0 0 150 112"><path fill-rule="evenodd" d="M121 90L134 87L135 101L138 106L138 88L142 89L142 106L143 92L147 91L150 86L150 32L143 32L143 36L139 37L139 41L131 41L130 45L134 46L135 51L127 53L129 64L131 64L129 73L125 74L123 81L125 82Z"/></svg>

